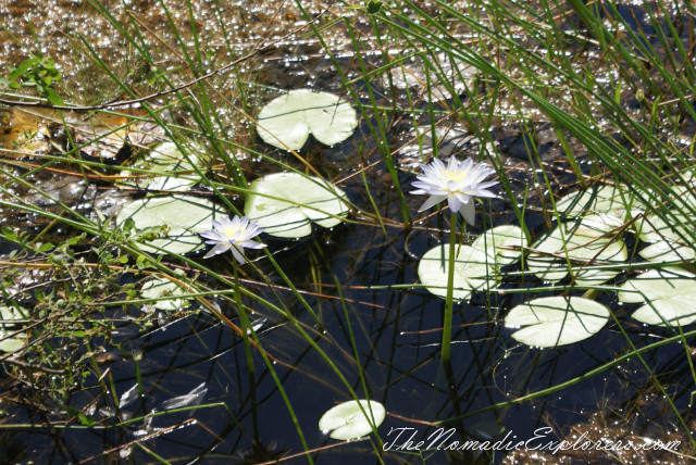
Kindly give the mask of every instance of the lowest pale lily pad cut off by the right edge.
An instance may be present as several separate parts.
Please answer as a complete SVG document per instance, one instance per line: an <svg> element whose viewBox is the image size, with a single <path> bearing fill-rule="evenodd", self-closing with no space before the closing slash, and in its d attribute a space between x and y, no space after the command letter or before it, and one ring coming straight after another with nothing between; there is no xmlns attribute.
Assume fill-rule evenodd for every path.
<svg viewBox="0 0 696 465"><path fill-rule="evenodd" d="M650 269L621 285L619 300L643 303L633 313L638 322L657 326L681 326L696 322L696 275L678 268Z"/></svg>

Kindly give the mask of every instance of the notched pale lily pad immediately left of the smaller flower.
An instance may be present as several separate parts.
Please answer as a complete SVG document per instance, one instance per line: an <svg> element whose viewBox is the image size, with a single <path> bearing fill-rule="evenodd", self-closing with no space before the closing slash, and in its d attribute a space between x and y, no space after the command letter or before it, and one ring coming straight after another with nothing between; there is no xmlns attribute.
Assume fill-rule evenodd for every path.
<svg viewBox="0 0 696 465"><path fill-rule="evenodd" d="M132 218L135 227L146 229L167 226L165 237L158 237L140 244L146 252L183 254L203 247L198 236L211 229L212 221L226 216L225 211L214 203L197 197L171 196L136 200L124 206L116 215L116 224Z"/></svg>

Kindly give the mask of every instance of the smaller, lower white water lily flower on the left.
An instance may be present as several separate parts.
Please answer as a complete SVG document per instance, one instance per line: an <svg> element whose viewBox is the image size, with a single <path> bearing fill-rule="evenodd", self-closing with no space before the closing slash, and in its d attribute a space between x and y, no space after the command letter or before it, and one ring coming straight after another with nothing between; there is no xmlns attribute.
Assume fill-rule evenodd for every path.
<svg viewBox="0 0 696 465"><path fill-rule="evenodd" d="M249 218L246 216L235 215L232 219L222 218L219 222L213 219L213 229L200 234L208 239L206 243L215 246L203 259L231 250L237 262L244 263L244 249L263 249L265 247L264 243L251 240L261 232L263 229L259 227L258 222L254 219L249 223Z"/></svg>

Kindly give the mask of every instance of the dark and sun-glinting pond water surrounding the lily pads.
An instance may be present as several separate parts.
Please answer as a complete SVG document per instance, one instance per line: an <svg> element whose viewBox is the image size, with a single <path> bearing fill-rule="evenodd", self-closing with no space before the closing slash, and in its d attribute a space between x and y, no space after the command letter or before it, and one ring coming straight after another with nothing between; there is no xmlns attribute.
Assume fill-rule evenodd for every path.
<svg viewBox="0 0 696 465"><path fill-rule="evenodd" d="M188 21L188 9L185 4L165 3L172 22L184 34L182 40L192 48L194 28ZM206 54L208 62L201 64L202 73L224 64L233 51L241 55L259 41L284 38L306 24L301 12L289 3L192 3L196 34L210 50ZM181 71L183 59L175 47L178 39L172 33L167 12L159 2L114 1L104 3L104 7L121 24L128 24L128 27L138 24L145 34L144 43L160 58L160 68L166 70L172 79L186 81L188 76ZM331 20L338 15L353 22L361 35L362 47L372 51L372 54L364 53L364 59L369 66L376 68L385 61L371 36L370 20L337 5L326 11L319 3L307 8L311 15L325 15L320 24L327 25L325 38L328 47L339 56L339 64L362 103L366 105L370 101L365 87L369 85L376 92L378 105L387 109L385 115L388 114L389 124L386 138L391 146L398 179L405 190L410 190L419 163L433 152L432 137L426 136L423 147L419 148L413 133L415 120L421 134L430 134L431 121L425 110L431 103L421 100L412 105L411 110L423 111L422 114L415 111L411 114L403 111L390 113L388 109L391 106L408 108L406 91L399 89L399 93L393 96L384 90L381 79L366 83L346 29L330 27ZM421 8L435 10L436 5L423 2ZM642 9L626 3L622 12L635 13ZM144 93L149 93L146 90L150 88L146 89L144 84L148 70L137 61L134 46L120 39L113 25L96 11L92 2L60 1L58 5L39 5L28 0L16 1L0 7L0 13L7 28L4 35L0 35L3 41L0 50L2 67L16 65L26 58L26 49L14 43L9 33L26 47L33 47L32 36L35 35L42 52L54 58L62 67L66 101L91 105L126 98L123 89L90 60L85 46L87 42L97 54L110 58L110 66L114 73L127 77L128 86L140 86ZM638 26L644 27L645 34L652 34L647 25L641 23ZM86 38L85 42L79 41L78 33ZM228 48L226 41L231 39L234 46ZM604 64L598 61L599 49L588 49L583 51L573 46L569 47L568 53L577 54L579 67L596 66L600 74ZM513 74L514 70L510 73ZM613 77L608 76L607 79ZM209 81L211 103L220 109L220 127L227 130L227 134L216 134L219 137L227 137L239 147L253 147L258 152L283 160L298 169L304 169L304 163L256 138L248 130L240 112L251 111L282 89L309 87L348 96L332 61L313 37L284 38L262 54L241 63L234 73L213 76ZM493 86L487 81L476 85L482 88ZM240 88L245 89L244 92L239 91ZM623 99L627 111L635 110L636 115L642 114L630 92L619 92L619 98ZM524 121L506 116L506 104L511 109L511 101L510 98L499 101L500 108L496 111L500 117L492 127L489 143L499 154L500 166L507 172L518 201L526 205L525 222L532 236L538 237L550 224L548 192L545 192L542 173L551 177L550 184L557 197L577 190L580 186L573 166L563 156L566 149L559 143L550 123L540 114L535 115L533 108L510 110L514 115L524 114ZM157 103L165 104L166 100L161 99ZM439 155L477 156L481 142L472 137L474 131L471 127L449 114L448 105L451 104L451 99L440 102L437 115L442 120L433 123L437 126ZM99 115L99 124L111 127L124 124L132 116L146 116L141 109L119 113L115 116ZM175 109L167 114L167 120L185 126L188 116L186 111ZM5 189L11 183L9 174L18 176L26 173L44 163L42 156L55 153L50 149L50 141L55 141L58 136L49 137L49 142L27 144L22 141L25 133L49 128L52 123L61 123L61 118L75 126L87 121L86 113L58 113L20 106L10 110L2 140L5 149L1 155L5 162L9 161L3 162L4 174L0 176ZM220 128L216 130L222 133ZM685 121L680 130L680 137L691 140L694 122ZM12 141L21 143L14 148ZM538 149L536 153L531 146ZM569 138L569 149L575 152L582 175L589 179L597 174L596 159L580 142ZM253 154L241 150L235 153L248 180L277 171L277 166ZM100 317L109 324L104 325L104 334L96 337L90 347L65 343L66 351L94 352L96 356L89 375L79 380L79 388L72 390L62 404L44 398L41 389L26 382L26 379L22 384L15 376L3 374L5 393L0 398L0 462L265 463L285 456L287 463L300 463L308 460L303 454L307 448L312 451L309 454L311 458L320 464L352 464L358 460L433 464L611 463L587 451L559 454L531 450L517 453L509 450L495 453L428 452L424 449L419 451L415 447L410 451L394 447L377 457L375 449L389 448L374 445L374 435L368 440L347 443L330 439L319 430L319 418L326 410L351 397L314 345L338 367L346 384L360 397L366 394L385 405L387 417L378 431L386 444L394 444L394 441L402 443L407 435L409 439L413 435L413 443L427 441L430 435L444 427L446 431L453 428L446 443L470 440L517 443L535 437L540 443L602 437L638 441L647 437L662 441L679 440L683 444L680 451L688 450L688 436L676 420L670 402L693 428L689 409L694 378L691 361L684 356L685 349L693 351L693 338L686 341L687 348L679 343L664 344L643 353L643 360L630 357L549 395L510 403L582 377L631 352L632 347L642 348L664 340L672 332L631 321L629 315L634 306L622 305L616 293L604 292L599 300L621 322L621 329L610 323L591 339L555 349L520 344L510 337L512 331L502 325L507 311L523 301L554 292L524 292L524 289L544 284L531 275L520 276L517 272L521 271L521 265L518 263L506 268L509 275L505 280L506 292L477 292L471 302L455 305L451 366L444 365L439 353L445 301L419 287L417 267L425 251L447 242L449 213L417 214L423 199L407 194L414 223L406 224L393 178L364 118L346 142L327 148L310 140L300 154L322 176L340 186L353 204L370 211L374 203L385 226L383 229L374 216L353 213L350 222L331 230L318 228L306 240L283 241L262 237L274 260L299 290L299 293L293 292L263 255L251 255L261 275L250 267L239 269L243 286L256 294L253 299L244 298L243 303L253 311L250 314L253 327L265 353L274 357L273 362L264 360L258 350L251 350L250 364L239 334L198 303L186 311L161 313L145 326L134 321L141 318L147 307L138 304L108 306ZM140 192L119 189L105 181L89 181L90 178L84 177L70 163L54 167L54 171L46 169L33 175L28 178L29 185L13 186L12 193L50 211L55 205L51 202L41 204L41 196L36 196L34 190L42 186L92 219L98 216L97 210L113 216L124 204L141 197ZM212 198L211 191L202 184L192 190ZM2 196L7 202L7 192ZM238 196L231 194L231 200L241 208ZM27 214L7 205L1 214L3 226L20 227L30 234L41 232L47 241L64 240L75 234L64 226L55 227L41 215ZM467 229L464 241L492 226L506 224L517 224L510 202L504 198L485 202L478 210L476 226ZM94 243L88 246L96 247ZM630 242L629 249L631 246ZM89 247L82 251L89 252ZM16 246L0 240L0 261L10 261L12 250L16 250ZM194 254L192 260L202 261L202 254ZM189 277L196 274L185 262L170 257L164 262L184 269ZM229 262L211 259L204 264L233 279ZM7 264L2 266L0 269L9 269ZM196 276L221 294L227 290L212 275ZM622 273L617 281L626 276L626 272ZM34 274L23 279L26 288L45 284L50 275ZM139 279L140 276L127 273L117 276L115 285L127 287L139 282ZM38 305L35 294L23 292L26 304ZM585 290L572 292L573 296L582 296ZM4 292L3 299L7 300L8 296ZM94 296L95 301L101 298ZM124 296L114 292L113 300L121 299ZM261 307L259 299L282 302L303 331L310 335L312 343L287 317ZM210 302L229 321L240 325L236 305L220 296L210 297ZM269 362L272 370L266 365ZM646 366L657 378L650 376ZM279 379L283 392L274 377ZM289 400L293 414L288 413L284 398ZM196 409L165 413L181 406ZM67 411L69 407L72 410ZM74 418L75 412L87 415L96 424L80 425ZM402 436L397 439L399 431ZM684 461L663 452L622 457L627 463L639 463L646 457L661 463Z"/></svg>

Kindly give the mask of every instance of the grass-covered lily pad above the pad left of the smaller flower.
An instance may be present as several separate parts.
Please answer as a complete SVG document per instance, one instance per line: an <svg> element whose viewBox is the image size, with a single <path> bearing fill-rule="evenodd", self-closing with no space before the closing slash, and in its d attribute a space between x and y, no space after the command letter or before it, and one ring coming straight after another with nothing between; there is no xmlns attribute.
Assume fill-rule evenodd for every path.
<svg viewBox="0 0 696 465"><path fill-rule="evenodd" d="M147 169L152 175L146 176L141 173L136 173L138 177L135 178L135 181L125 181L122 183L122 186L135 186L147 190L188 190L200 181L200 176L198 176L190 162L202 168L206 161L206 154L200 146L191 143L188 147L191 150L187 152L187 159L174 142L160 143L133 165L134 168ZM178 175L176 174L177 172L190 173ZM121 173L121 176L133 175L129 169Z"/></svg>

